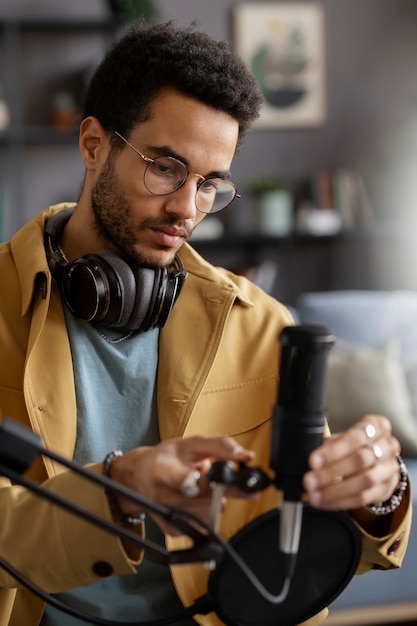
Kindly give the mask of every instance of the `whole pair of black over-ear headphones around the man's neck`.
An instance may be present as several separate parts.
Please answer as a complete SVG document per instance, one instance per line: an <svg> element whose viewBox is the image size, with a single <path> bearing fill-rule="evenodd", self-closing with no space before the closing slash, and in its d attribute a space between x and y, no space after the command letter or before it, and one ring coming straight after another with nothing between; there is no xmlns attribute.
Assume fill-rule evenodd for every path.
<svg viewBox="0 0 417 626"><path fill-rule="evenodd" d="M130 265L111 250L68 261L58 239L73 211L59 211L45 225L48 265L66 306L76 317L106 328L162 328L187 278L179 256L161 268Z"/></svg>

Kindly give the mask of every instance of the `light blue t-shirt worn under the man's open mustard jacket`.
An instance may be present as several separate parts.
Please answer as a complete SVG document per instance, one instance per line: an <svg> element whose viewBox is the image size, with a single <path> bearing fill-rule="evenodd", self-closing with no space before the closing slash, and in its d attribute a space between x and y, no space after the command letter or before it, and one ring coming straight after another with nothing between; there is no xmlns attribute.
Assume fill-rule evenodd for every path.
<svg viewBox="0 0 417 626"><path fill-rule="evenodd" d="M123 336L100 330L65 311L77 398L74 460L99 462L111 450L126 452L159 441L156 409L158 329ZM125 333L126 334L126 333ZM147 537L163 543L147 518ZM145 559L136 575L112 576L56 597L86 613L115 620L146 621L181 613L169 569ZM79 626L80 621L47 606L41 626ZM195 625L192 619L178 622Z"/></svg>

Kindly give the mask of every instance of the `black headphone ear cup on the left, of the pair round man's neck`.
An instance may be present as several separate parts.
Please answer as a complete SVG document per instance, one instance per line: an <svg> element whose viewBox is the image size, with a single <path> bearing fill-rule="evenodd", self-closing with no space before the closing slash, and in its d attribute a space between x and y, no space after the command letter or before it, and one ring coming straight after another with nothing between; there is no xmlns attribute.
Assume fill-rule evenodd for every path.
<svg viewBox="0 0 417 626"><path fill-rule="evenodd" d="M74 315L119 328L131 317L136 281L123 259L111 250L100 250L69 263L61 277L61 289Z"/></svg>

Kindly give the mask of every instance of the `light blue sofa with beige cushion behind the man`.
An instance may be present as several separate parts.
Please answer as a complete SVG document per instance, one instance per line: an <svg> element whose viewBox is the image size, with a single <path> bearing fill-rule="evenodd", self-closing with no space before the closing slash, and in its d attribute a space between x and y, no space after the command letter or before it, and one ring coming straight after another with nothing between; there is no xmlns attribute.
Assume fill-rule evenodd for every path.
<svg viewBox="0 0 417 626"><path fill-rule="evenodd" d="M324 324L336 338L326 387L331 429L344 430L367 412L385 414L417 485L417 292L305 293L294 313L298 323ZM416 563L414 520L402 567L355 576L332 603L326 624L417 623Z"/></svg>

